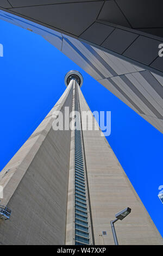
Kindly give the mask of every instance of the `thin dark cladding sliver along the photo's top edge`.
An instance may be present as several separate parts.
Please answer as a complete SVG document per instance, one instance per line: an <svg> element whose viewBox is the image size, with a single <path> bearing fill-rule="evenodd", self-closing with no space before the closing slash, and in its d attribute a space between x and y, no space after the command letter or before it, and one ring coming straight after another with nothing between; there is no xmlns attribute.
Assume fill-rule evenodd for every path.
<svg viewBox="0 0 163 256"><path fill-rule="evenodd" d="M1 0L2 1L2 0ZM76 2L87 2L88 0L9 0L12 4L12 7L26 7L42 4L62 4L62 3L76 3ZM89 0L89 1L98 1L98 0Z"/></svg>

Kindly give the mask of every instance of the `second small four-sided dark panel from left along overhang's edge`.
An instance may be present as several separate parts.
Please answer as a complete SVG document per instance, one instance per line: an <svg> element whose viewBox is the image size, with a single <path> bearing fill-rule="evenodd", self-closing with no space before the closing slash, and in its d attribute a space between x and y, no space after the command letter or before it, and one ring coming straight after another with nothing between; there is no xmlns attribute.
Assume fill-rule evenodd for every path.
<svg viewBox="0 0 163 256"><path fill-rule="evenodd" d="M139 35L116 28L101 46L122 54Z"/></svg>

